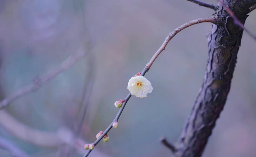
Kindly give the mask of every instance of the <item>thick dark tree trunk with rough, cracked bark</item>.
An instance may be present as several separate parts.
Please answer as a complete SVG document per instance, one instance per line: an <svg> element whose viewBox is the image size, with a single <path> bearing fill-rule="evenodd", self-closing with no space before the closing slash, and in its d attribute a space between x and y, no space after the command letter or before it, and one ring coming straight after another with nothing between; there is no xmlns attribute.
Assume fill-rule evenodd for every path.
<svg viewBox="0 0 256 157"><path fill-rule="evenodd" d="M243 24L248 9L256 4L256 0L224 2ZM209 59L204 82L175 145L174 156L201 156L229 93L243 30L221 4L217 7L214 17L221 22L214 24L208 34Z"/></svg>

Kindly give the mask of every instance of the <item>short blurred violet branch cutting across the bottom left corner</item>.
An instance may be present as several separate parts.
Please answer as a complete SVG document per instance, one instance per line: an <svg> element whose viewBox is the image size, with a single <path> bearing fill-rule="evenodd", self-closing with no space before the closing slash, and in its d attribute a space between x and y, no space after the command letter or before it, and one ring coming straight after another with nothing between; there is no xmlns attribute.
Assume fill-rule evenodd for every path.
<svg viewBox="0 0 256 157"><path fill-rule="evenodd" d="M12 154L15 157L30 157L27 153L21 150L17 145L3 138L2 136L0 136L0 147L7 150L10 154Z"/></svg>

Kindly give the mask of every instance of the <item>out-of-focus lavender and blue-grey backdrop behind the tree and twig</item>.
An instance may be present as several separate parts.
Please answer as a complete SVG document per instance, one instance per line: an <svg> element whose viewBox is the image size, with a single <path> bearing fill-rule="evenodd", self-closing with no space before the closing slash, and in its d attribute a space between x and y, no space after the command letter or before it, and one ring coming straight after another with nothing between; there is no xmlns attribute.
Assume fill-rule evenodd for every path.
<svg viewBox="0 0 256 157"><path fill-rule="evenodd" d="M0 110L1 157L83 156L83 145L109 126L118 112L114 102L126 97L129 79L168 33L214 13L185 0L0 3L1 100L82 53L40 89ZM249 15L245 26L255 32L256 11ZM194 25L168 43L145 75L152 93L132 96L109 142L100 141L89 156L170 156L159 138L175 143L180 135L205 73L208 31L210 23ZM225 108L202 156L256 156L255 49L244 33Z"/></svg>

